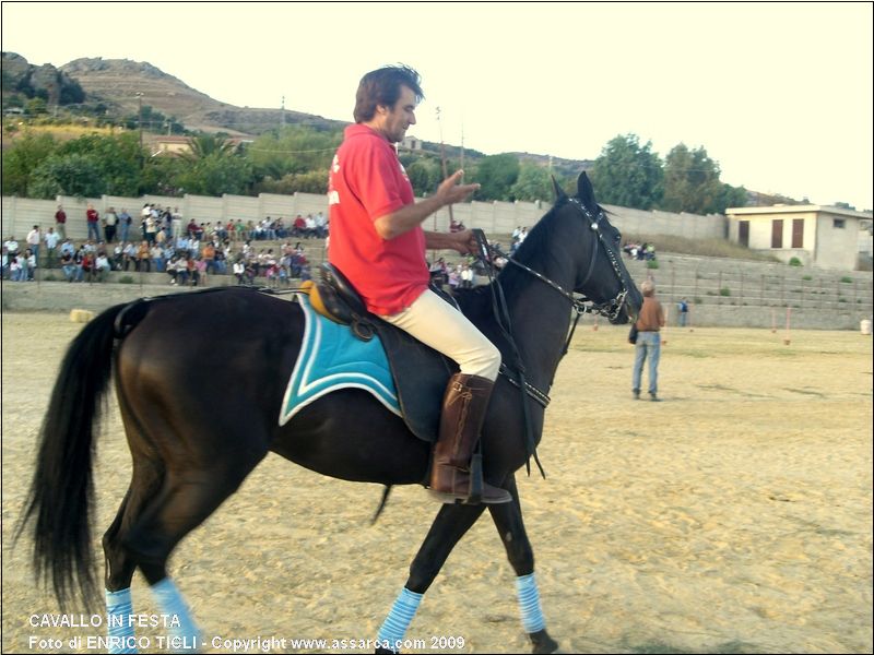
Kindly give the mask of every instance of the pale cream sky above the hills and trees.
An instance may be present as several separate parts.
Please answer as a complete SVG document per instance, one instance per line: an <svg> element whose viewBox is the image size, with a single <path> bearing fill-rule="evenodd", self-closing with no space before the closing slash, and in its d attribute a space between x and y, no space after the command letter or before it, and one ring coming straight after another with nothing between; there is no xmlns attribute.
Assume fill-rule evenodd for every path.
<svg viewBox="0 0 874 655"><path fill-rule="evenodd" d="M2 49L349 121L362 75L402 62L425 141L594 159L636 134L704 147L735 187L874 207L870 2L3 2Z"/></svg>

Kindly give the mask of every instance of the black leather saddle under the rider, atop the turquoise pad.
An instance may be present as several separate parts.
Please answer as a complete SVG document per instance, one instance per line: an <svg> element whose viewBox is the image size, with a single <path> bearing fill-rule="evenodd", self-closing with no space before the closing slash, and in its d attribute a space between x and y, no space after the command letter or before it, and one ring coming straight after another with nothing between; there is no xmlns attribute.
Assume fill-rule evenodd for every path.
<svg viewBox="0 0 874 655"><path fill-rule="evenodd" d="M442 289L430 288L459 309L454 298ZM352 283L327 262L321 265L320 279L307 281L302 290L309 294L314 310L334 323L349 325L356 338L365 342L374 336L379 338L406 427L423 441L435 442L440 425L440 401L449 377L458 371L458 365L367 311Z"/></svg>

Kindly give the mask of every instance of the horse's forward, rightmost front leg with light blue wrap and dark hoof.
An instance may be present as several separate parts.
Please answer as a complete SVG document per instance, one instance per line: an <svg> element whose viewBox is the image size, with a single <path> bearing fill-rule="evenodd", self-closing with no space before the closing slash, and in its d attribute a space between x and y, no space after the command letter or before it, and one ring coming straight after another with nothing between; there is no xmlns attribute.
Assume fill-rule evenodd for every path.
<svg viewBox="0 0 874 655"><path fill-rule="evenodd" d="M546 633L546 621L543 618L540 592L534 579L534 551L522 523L522 508L519 505L516 478L510 477L505 488L512 496L512 502L489 505L488 511L492 512L492 520L498 528L504 548L507 549L507 559L516 571L516 593L522 628L531 640L532 653L555 653L558 643Z"/></svg>

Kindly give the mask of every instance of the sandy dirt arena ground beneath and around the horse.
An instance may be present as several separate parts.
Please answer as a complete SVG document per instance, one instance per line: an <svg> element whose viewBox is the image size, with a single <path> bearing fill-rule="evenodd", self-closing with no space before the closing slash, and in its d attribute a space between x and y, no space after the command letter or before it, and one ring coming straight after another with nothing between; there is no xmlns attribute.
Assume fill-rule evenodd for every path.
<svg viewBox="0 0 874 655"><path fill-rule="evenodd" d="M57 365L80 327L66 314L2 318L3 652L84 652L69 640L104 633L32 624L60 609L35 586L26 539L13 549L10 538ZM672 329L663 402L649 403L630 397L625 334L578 329L540 448L548 477L518 476L547 628L563 651L871 653L871 337L792 332L787 345L769 330ZM114 401L105 425L98 562L130 472ZM268 457L170 562L206 652L267 652L271 638L286 640L273 652L340 652L331 640L373 638L437 510L421 488L395 489L370 527L380 491ZM139 575L133 595L135 612L155 612ZM160 651L164 632L139 629L151 639L144 651ZM487 515L406 636L425 641L410 653L528 652Z"/></svg>

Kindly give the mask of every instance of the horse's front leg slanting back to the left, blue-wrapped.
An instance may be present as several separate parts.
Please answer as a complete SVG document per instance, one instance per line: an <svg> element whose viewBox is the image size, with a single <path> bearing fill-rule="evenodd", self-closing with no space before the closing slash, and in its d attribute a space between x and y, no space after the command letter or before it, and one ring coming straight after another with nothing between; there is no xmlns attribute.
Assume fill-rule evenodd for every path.
<svg viewBox="0 0 874 655"><path fill-rule="evenodd" d="M379 629L377 653L397 653L406 629L456 544L482 515L485 505L445 504L410 564L410 577Z"/></svg>

